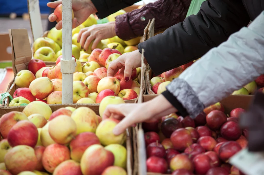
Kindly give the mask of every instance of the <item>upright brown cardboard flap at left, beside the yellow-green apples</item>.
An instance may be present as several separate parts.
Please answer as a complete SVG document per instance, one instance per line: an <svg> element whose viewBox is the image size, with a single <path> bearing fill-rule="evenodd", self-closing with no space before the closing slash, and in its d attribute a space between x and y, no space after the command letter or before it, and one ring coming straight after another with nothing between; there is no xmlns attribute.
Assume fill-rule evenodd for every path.
<svg viewBox="0 0 264 175"><path fill-rule="evenodd" d="M12 66L14 74L27 69L32 58L27 29L9 29L9 38L12 48Z"/></svg>

